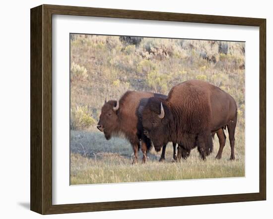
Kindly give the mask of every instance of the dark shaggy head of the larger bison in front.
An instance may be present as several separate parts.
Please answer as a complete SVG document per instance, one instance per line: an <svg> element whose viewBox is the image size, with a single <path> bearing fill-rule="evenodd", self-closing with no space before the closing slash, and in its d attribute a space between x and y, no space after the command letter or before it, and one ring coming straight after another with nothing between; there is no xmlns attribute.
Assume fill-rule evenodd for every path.
<svg viewBox="0 0 273 219"><path fill-rule="evenodd" d="M142 111L143 133L152 140L154 149L160 151L168 143L168 126L171 112L167 103L160 98L149 98Z"/></svg>

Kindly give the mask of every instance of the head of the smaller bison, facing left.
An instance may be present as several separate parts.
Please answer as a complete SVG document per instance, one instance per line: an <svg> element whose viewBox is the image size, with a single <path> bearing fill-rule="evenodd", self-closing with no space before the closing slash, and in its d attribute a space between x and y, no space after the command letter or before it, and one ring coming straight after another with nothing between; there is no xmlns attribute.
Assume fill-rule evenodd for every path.
<svg viewBox="0 0 273 219"><path fill-rule="evenodd" d="M104 103L97 128L104 133L104 136L109 140L118 127L118 110L119 101L108 101Z"/></svg>

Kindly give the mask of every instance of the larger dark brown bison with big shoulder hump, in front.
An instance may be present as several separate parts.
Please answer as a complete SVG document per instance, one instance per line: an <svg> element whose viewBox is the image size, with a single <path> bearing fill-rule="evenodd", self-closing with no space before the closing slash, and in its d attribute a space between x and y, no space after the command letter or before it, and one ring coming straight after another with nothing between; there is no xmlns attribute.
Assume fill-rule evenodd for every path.
<svg viewBox="0 0 273 219"><path fill-rule="evenodd" d="M212 152L211 133L226 126L231 147L230 159L235 159L236 122L234 99L220 88L200 80L189 80L174 86L165 100L149 98L142 110L143 133L151 139L156 149L167 142L177 142L182 156L187 157L191 149L197 146L203 160ZM219 149L219 158L221 151Z"/></svg>

